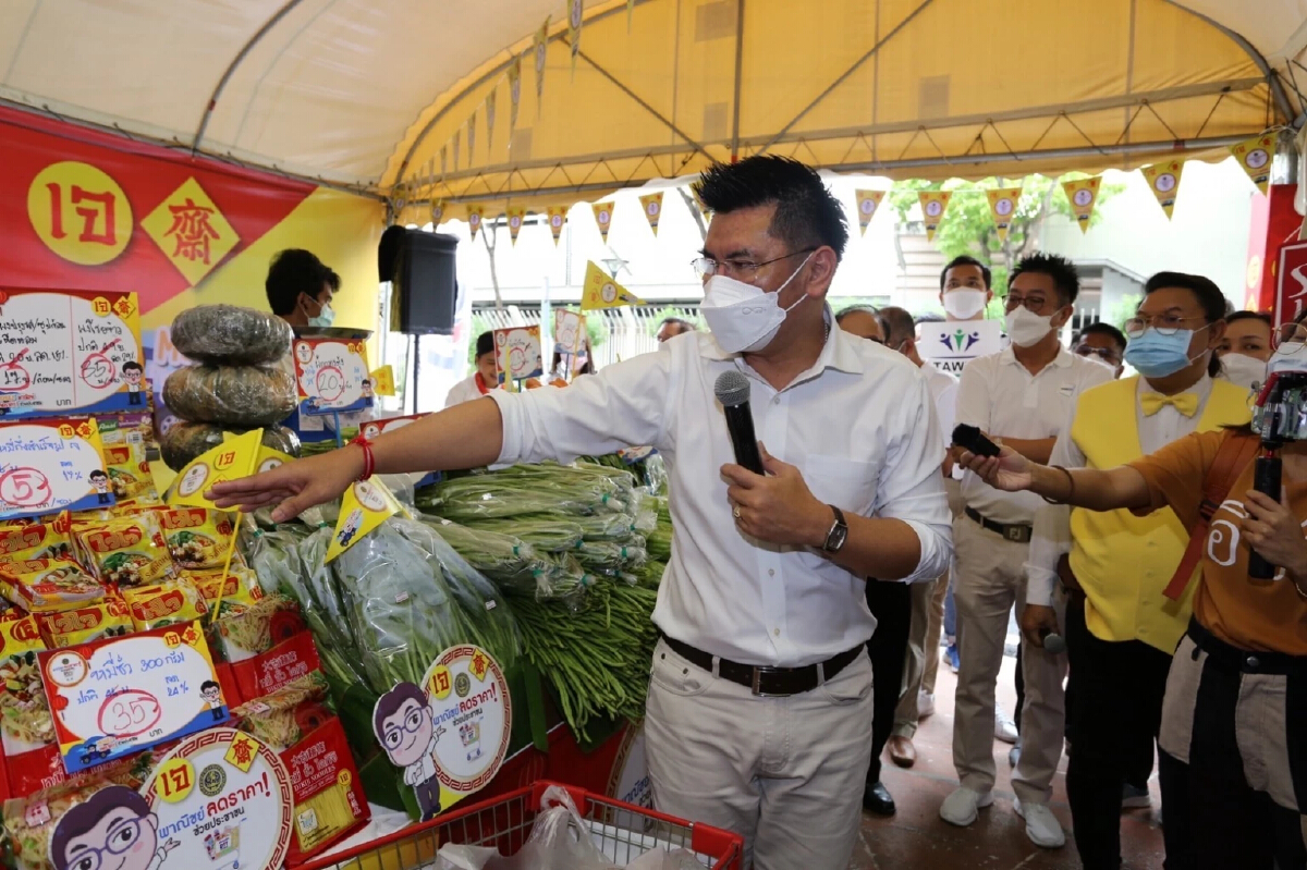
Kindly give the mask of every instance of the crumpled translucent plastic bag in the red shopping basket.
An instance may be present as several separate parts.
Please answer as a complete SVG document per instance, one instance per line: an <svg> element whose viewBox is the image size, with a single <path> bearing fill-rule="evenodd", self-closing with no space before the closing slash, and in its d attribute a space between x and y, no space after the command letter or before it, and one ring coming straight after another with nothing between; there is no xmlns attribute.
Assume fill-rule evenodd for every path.
<svg viewBox="0 0 1307 870"><path fill-rule="evenodd" d="M440 846L439 870L617 870L589 836L586 819L566 789L553 785L540 798L540 814L518 854L505 858L484 846ZM546 809L548 807L548 809ZM702 866L702 865L701 865Z"/></svg>

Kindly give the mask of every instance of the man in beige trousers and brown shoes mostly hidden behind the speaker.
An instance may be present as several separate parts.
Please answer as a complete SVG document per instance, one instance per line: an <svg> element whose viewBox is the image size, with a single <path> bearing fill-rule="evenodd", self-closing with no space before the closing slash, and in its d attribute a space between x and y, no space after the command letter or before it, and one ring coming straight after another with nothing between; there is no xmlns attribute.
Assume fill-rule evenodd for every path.
<svg viewBox="0 0 1307 870"><path fill-rule="evenodd" d="M936 413L940 417L940 435L944 438L945 449L948 449L958 404L958 379L921 359L921 354L916 349L916 323L912 315L903 308L891 306L881 308L880 317L886 333L885 345L907 357L925 375L927 383L931 385L931 396L935 398ZM940 617L935 613L942 615L944 597L942 593L937 594L941 583L949 583L948 573L938 580L912 584L907 651L903 660L903 686L899 690L899 703L894 711L894 725L889 738L890 758L899 767L912 767L916 763L916 747L912 746L916 724L921 713L928 712L929 707L935 704L933 678L931 691L927 692L928 699L921 698L920 692L928 662L933 660L937 666L940 660ZM935 628L933 639L931 637L932 626Z"/></svg>

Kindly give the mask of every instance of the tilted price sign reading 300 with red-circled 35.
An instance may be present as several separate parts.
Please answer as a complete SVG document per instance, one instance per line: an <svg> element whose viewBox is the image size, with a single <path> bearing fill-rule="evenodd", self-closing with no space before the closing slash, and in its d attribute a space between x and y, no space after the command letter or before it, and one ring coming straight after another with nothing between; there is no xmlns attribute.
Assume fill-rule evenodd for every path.
<svg viewBox="0 0 1307 870"><path fill-rule="evenodd" d="M199 623L39 654L69 773L227 720Z"/></svg>

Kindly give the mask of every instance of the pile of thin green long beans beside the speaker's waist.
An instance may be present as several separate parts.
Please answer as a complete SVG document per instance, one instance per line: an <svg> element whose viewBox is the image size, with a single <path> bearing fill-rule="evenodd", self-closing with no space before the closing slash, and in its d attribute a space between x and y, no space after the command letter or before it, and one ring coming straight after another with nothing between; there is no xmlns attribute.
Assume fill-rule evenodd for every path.
<svg viewBox="0 0 1307 870"><path fill-rule="evenodd" d="M593 718L642 718L657 630L657 593L601 579L574 610L559 600L515 602L523 652L558 698L582 739Z"/></svg>

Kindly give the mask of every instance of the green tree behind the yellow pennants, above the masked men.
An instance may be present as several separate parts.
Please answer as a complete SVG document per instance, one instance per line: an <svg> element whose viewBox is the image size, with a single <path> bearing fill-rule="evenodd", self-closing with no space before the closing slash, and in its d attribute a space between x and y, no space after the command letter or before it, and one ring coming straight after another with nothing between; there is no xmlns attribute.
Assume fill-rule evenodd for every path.
<svg viewBox="0 0 1307 870"><path fill-rule="evenodd" d="M898 212L899 221L907 221L910 209L920 201L921 191L950 191L953 199L944 213L940 229L935 234L935 247L951 260L963 253L987 264L993 272L992 290L996 298L1008 294L1009 264L1016 263L1039 247L1039 233L1050 214L1072 217L1070 202L1061 187L1063 180L1087 178L1084 172L1069 172L1060 179L1043 175L1030 175L1021 183L1021 200L1008 229L1008 238L999 239L999 227L989 210L985 191L1000 187L1017 187L1016 180L987 178L980 182L908 180L894 185L889 200ZM1090 214L1089 225L1095 226L1102 219L1102 208L1108 200L1125 189L1124 184L1102 184L1098 188L1098 202Z"/></svg>

